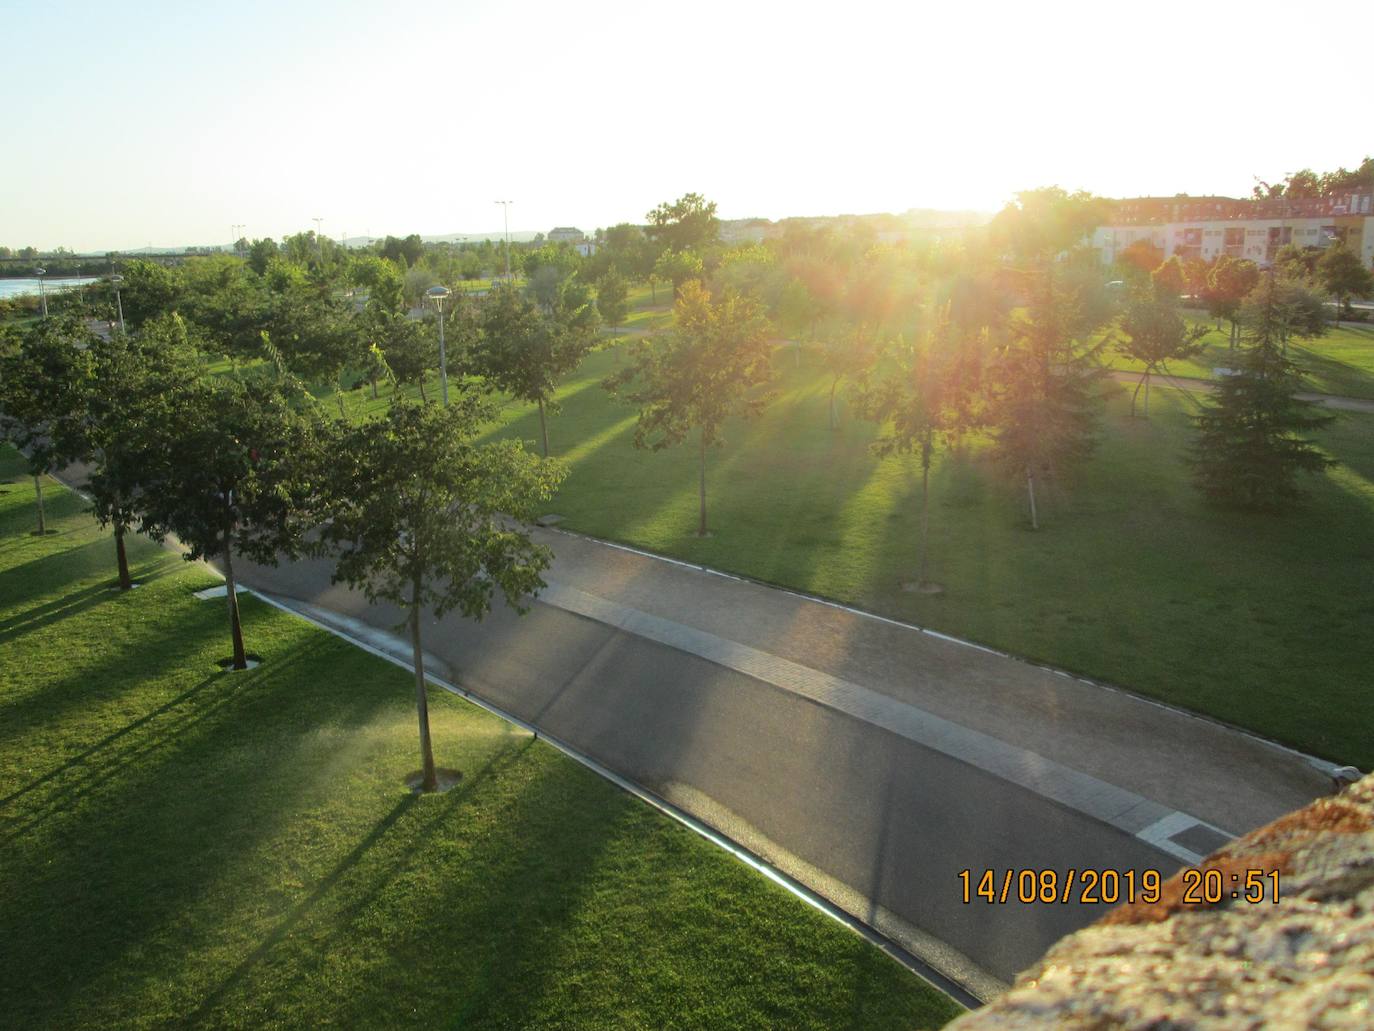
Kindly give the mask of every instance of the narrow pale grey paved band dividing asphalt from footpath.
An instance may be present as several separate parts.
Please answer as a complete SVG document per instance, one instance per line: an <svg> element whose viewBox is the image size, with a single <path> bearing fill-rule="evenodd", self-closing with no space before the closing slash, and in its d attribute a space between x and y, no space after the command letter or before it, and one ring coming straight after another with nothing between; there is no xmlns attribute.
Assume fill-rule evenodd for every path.
<svg viewBox="0 0 1374 1031"><path fill-rule="evenodd" d="M1103 823L1110 823L1186 863L1197 863L1202 856L1175 841L1173 836L1200 826L1226 839L1234 837L1234 834L1197 817L1171 810L1142 795L1073 770L1029 749L1018 748L881 691L757 647L728 641L675 620L653 616L552 580L540 591L539 599L545 605L624 630L627 634L676 647L680 652L687 652L716 665L808 698L818 705L882 727L918 745L1010 781L1044 799Z"/></svg>

